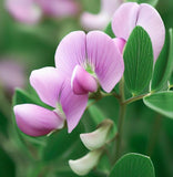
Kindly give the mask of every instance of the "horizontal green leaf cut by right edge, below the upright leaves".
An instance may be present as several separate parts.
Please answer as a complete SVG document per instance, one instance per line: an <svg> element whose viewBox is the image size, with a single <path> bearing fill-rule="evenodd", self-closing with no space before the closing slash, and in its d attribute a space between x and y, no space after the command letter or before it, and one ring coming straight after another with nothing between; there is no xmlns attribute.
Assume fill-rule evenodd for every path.
<svg viewBox="0 0 173 177"><path fill-rule="evenodd" d="M151 94L143 98L144 104L151 110L173 118L173 92L165 91Z"/></svg>

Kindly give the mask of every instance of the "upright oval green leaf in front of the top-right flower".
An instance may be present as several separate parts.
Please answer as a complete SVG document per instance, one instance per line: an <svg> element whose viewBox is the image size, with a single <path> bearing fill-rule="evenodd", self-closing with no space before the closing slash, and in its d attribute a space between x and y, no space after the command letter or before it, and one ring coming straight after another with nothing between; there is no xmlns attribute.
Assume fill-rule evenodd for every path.
<svg viewBox="0 0 173 177"><path fill-rule="evenodd" d="M133 95L149 86L153 70L153 50L149 34L142 27L136 27L124 49L124 80Z"/></svg>

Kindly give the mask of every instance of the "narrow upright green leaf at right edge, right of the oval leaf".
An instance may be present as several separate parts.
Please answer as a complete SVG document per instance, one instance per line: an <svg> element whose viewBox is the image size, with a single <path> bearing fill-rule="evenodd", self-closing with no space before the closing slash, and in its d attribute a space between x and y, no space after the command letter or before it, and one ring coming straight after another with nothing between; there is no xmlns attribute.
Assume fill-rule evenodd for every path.
<svg viewBox="0 0 173 177"><path fill-rule="evenodd" d="M162 52L156 60L151 90L159 91L169 81L173 67L173 31L170 29L170 42L165 40ZM170 43L170 46L169 46Z"/></svg>

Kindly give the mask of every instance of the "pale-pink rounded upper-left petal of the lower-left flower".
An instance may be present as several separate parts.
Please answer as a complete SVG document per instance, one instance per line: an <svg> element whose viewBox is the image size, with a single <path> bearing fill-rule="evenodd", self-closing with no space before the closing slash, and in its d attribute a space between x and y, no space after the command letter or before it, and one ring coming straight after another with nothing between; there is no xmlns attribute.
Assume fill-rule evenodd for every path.
<svg viewBox="0 0 173 177"><path fill-rule="evenodd" d="M63 73L54 67L43 67L32 71L30 83L42 102L55 107L64 82Z"/></svg>

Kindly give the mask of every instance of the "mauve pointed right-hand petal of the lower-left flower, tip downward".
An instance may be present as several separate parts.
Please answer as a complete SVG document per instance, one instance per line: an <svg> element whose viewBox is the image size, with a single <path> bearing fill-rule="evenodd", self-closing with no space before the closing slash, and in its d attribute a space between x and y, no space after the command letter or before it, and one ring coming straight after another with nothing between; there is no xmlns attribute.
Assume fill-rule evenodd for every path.
<svg viewBox="0 0 173 177"><path fill-rule="evenodd" d="M78 125L88 104L88 94L75 95L65 82L61 93L61 105L68 122L68 132L71 133Z"/></svg>

